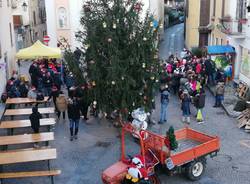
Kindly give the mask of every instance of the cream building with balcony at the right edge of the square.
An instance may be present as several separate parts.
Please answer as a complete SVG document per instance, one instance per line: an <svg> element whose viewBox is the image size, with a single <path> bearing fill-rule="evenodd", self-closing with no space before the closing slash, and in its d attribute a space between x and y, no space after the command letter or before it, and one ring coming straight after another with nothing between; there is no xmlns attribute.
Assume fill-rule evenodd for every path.
<svg viewBox="0 0 250 184"><path fill-rule="evenodd" d="M210 45L230 44L235 48L234 78L250 85L249 0L212 0L210 21L214 29Z"/></svg>

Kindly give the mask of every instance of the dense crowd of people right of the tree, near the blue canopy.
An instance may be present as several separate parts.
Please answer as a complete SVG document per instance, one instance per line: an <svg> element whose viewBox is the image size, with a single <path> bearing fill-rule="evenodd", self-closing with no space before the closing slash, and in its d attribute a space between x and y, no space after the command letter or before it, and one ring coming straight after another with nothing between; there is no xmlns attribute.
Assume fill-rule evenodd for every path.
<svg viewBox="0 0 250 184"><path fill-rule="evenodd" d="M190 106L193 104L196 119L204 122L203 108L205 107L205 86L216 85L214 107L220 107L225 90L226 76L217 69L210 56L198 58L186 49L180 57L170 55L163 62L161 76L161 114L159 124L167 121L166 112L169 102L169 92L176 94L181 101L182 121L190 123ZM166 92L167 91L167 92Z"/></svg>

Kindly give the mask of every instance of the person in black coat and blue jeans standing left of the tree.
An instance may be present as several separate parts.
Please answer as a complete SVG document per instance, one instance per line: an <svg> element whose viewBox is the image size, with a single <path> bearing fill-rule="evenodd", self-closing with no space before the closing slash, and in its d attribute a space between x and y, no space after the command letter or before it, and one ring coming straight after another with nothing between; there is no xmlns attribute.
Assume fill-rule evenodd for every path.
<svg viewBox="0 0 250 184"><path fill-rule="evenodd" d="M76 97L68 100L68 118L70 122L70 141L77 139L79 121L80 121L80 105Z"/></svg>

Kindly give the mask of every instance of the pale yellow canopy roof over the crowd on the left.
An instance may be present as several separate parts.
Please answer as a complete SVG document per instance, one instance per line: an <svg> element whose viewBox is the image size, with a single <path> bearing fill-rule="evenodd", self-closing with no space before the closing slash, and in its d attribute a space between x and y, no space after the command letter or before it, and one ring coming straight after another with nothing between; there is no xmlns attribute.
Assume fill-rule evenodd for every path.
<svg viewBox="0 0 250 184"><path fill-rule="evenodd" d="M18 59L36 59L36 58L61 58L61 50L42 44L39 40L31 47L21 49L16 57Z"/></svg>

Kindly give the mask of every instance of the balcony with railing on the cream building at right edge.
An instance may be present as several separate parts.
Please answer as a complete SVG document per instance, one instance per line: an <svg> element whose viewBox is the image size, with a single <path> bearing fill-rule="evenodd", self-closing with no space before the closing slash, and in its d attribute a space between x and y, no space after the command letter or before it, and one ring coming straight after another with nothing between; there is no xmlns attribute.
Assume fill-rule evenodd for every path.
<svg viewBox="0 0 250 184"><path fill-rule="evenodd" d="M221 20L217 28L228 35L244 37L246 34L247 19L240 20Z"/></svg>

